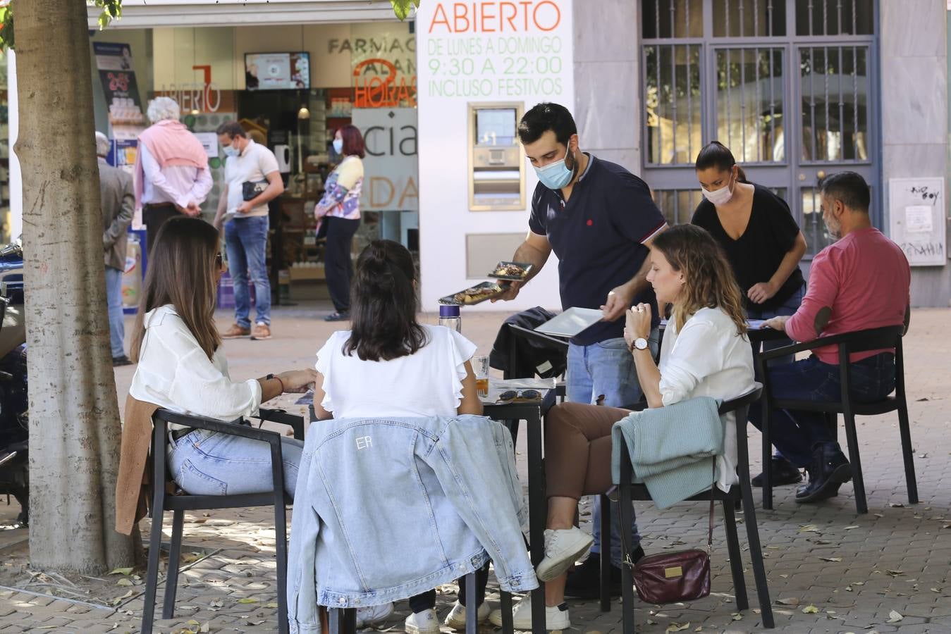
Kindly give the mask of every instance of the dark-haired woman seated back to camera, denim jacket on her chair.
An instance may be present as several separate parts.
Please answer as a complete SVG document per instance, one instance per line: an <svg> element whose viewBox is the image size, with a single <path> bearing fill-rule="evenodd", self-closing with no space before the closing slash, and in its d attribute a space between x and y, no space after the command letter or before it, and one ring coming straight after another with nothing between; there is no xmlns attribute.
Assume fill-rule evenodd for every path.
<svg viewBox="0 0 951 634"><path fill-rule="evenodd" d="M470 363L476 346L455 330L417 322L417 279L413 257L398 242L374 240L360 254L350 290L352 328L334 333L317 354L318 418L482 413ZM476 578L484 620L488 567ZM462 580L460 586L461 599ZM411 597L406 631L437 634L435 607L436 590ZM456 602L446 624L465 627L465 610Z"/></svg>

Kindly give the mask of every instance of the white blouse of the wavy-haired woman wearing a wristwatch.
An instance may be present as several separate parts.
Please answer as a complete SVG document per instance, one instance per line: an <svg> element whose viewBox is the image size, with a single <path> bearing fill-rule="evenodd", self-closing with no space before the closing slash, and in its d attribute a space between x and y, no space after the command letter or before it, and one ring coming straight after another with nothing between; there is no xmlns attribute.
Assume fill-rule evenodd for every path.
<svg viewBox="0 0 951 634"><path fill-rule="evenodd" d="M753 389L753 351L747 336L720 308L701 308L677 332L671 318L660 348L660 394L665 406L695 396L729 400ZM736 415L725 416L724 455L717 486L736 483Z"/></svg>

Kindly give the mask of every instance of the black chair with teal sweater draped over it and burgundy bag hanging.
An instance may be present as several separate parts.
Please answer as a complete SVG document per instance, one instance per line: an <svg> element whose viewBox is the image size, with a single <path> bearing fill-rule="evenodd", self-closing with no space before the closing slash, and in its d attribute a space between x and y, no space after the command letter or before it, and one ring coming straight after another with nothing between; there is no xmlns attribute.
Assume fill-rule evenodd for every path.
<svg viewBox="0 0 951 634"><path fill-rule="evenodd" d="M737 502L743 502L743 513L747 525L747 540L749 542L749 556L752 559L753 577L756 580L756 594L760 601L760 611L763 624L767 628L775 626L772 607L769 604L769 586L767 586L767 572L763 565L763 550L760 547L760 533L756 524L756 511L753 509L753 490L749 481L749 454L747 451L747 412L749 405L759 399L763 386L759 383L753 390L724 402L720 406L720 415L728 412L736 413L736 449L739 487L733 486L724 492L714 486L711 490L694 495L690 501L709 501L710 496L723 504L724 528L727 530L727 549L729 552L729 567L733 576L733 586L736 591L736 606L739 610L749 607L747 600L747 583L743 576L743 563L740 555L740 541L737 536L736 518L733 509ZM631 456L627 451L621 451L621 483L617 487L621 507L621 526L631 526L631 501L650 500L650 491L643 484L631 484L633 467ZM602 533L603 535L604 533ZM622 561L627 561L631 553L630 540L623 540ZM622 609L624 611L624 634L634 631L634 587L631 577L631 568L622 566Z"/></svg>

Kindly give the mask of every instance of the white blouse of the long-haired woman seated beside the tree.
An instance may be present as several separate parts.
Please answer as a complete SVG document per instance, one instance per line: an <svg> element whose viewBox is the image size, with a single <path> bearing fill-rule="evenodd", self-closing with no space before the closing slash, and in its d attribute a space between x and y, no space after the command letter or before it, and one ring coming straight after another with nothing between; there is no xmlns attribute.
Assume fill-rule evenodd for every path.
<svg viewBox="0 0 951 634"><path fill-rule="evenodd" d="M149 311L145 325L131 396L172 412L224 421L258 412L258 380L232 381L222 349L209 359L174 306Z"/></svg>

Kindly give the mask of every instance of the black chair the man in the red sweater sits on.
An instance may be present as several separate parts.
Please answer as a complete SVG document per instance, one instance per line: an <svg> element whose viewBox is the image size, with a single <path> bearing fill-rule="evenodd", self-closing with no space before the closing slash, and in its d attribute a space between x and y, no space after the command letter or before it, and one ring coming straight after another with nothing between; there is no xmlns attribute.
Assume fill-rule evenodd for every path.
<svg viewBox="0 0 951 634"><path fill-rule="evenodd" d="M862 461L859 458L859 440L855 429L855 416L872 416L881 413L898 412L899 430L902 434L902 456L904 458L904 478L908 488L908 503L918 504L918 485L915 482L915 463L911 447L911 430L908 426L908 403L904 394L904 357L902 355L902 336L906 325L885 326L870 330L860 330L843 335L824 336L805 343L776 348L757 355L759 373L763 377L763 464L769 465L770 413L774 409L803 410L826 414L829 427L836 434L838 414L845 419L845 437L848 441L848 461L852 465L852 484L855 489L855 506L860 513L868 512L865 500L865 485L862 477ZM778 356L792 355L805 350L814 350L823 346L839 348L839 378L842 382L842 395L838 401L781 400L770 395L770 382L767 362ZM849 363L852 353L868 350L895 349L895 395L883 400L860 403L849 391ZM763 470L763 508L772 509L772 481L768 469Z"/></svg>

